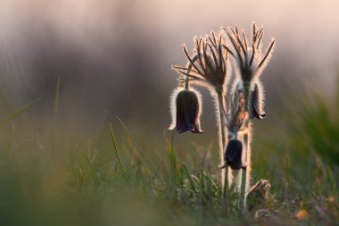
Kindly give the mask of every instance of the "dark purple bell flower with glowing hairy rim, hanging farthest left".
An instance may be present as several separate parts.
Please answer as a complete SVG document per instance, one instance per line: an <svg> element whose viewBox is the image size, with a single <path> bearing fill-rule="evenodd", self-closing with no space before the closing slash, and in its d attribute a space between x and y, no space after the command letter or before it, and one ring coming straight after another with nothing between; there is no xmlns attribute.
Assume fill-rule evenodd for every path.
<svg viewBox="0 0 339 226"><path fill-rule="evenodd" d="M193 133L203 133L200 128L202 114L202 98L193 88L177 88L170 99L172 122L169 130L177 129L179 133L190 130Z"/></svg>

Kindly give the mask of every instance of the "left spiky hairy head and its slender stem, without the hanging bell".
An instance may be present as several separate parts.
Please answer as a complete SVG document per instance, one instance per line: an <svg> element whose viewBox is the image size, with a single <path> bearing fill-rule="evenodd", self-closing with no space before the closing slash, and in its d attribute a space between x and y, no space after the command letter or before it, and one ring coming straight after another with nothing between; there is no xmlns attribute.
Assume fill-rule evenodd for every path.
<svg viewBox="0 0 339 226"><path fill-rule="evenodd" d="M188 81L194 81L196 85L203 85L210 89L216 103L216 119L218 122L219 133L219 155L220 164L224 165L224 152L227 142L227 134L225 130L226 123L226 89L227 82L230 77L230 66L228 61L227 49L223 47L222 32L219 37L211 32L205 38L194 38L194 56L191 57L186 46L183 46L184 53L189 62L188 67L173 66L178 72L184 74L186 78L179 81L187 84ZM227 171L224 168L221 173L222 185L225 183Z"/></svg>

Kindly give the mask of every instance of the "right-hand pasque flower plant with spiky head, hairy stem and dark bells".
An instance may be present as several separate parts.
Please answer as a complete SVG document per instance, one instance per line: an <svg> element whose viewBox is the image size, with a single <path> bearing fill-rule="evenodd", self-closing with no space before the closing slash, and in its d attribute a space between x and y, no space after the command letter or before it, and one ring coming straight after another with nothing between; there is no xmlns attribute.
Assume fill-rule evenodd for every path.
<svg viewBox="0 0 339 226"><path fill-rule="evenodd" d="M234 95L232 107L237 109L239 115L245 117L238 117L235 111L231 112L232 121L236 123L229 123L228 130L237 140L237 133L243 130L243 135L239 137L240 140L231 140L226 149L225 161L232 168L243 167L241 173L241 180L239 180L240 193L243 194L241 203L246 205L246 191L250 186L250 172L251 172L251 137L252 137L252 122L250 119L262 119L265 116L263 111L263 88L260 83L260 74L269 63L269 59L275 46L275 39L272 38L267 50L264 54L261 52L263 29L258 29L255 23L252 24L252 41L246 38L244 29L240 33L238 28L224 29L227 37L231 42L231 48L224 45L228 53L233 56L232 65L236 71L235 89L232 90ZM240 105L241 104L241 105ZM232 116L234 115L234 116ZM231 122L232 122L231 121ZM235 126L236 125L236 126ZM240 142L240 143L239 143ZM240 145L241 144L241 145ZM244 145L244 150L243 150ZM241 154L239 154L241 153ZM239 161L239 155L242 155ZM246 165L242 165L242 162ZM248 169L247 169L248 168Z"/></svg>

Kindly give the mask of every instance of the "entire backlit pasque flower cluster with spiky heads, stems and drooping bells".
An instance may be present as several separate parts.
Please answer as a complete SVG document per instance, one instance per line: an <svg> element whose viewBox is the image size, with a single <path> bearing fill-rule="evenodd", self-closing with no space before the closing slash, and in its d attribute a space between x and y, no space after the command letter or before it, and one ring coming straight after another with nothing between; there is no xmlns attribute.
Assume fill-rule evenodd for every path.
<svg viewBox="0 0 339 226"><path fill-rule="evenodd" d="M245 207L251 182L251 120L265 117L260 74L269 63L275 39L272 38L266 51L262 52L264 32L255 23L252 24L250 42L244 29L242 32L237 27L224 30L229 45L223 42L223 31L219 32L218 37L211 32L211 35L204 38L194 38L192 55L183 46L186 67L172 66L184 77L179 77L179 88L171 96L170 130L177 129L179 133L187 130L203 132L200 129L201 97L190 87L190 83L209 88L216 104L223 196L227 196L227 189L236 182L236 188L242 195L238 203ZM228 59L228 54L231 55L231 60ZM232 70L235 71L235 79L233 86L229 86Z"/></svg>

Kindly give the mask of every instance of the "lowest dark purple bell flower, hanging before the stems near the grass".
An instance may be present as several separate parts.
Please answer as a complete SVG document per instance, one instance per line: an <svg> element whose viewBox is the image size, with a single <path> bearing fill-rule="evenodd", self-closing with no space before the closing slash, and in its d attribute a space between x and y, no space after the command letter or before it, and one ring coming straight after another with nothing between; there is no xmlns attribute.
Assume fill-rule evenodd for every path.
<svg viewBox="0 0 339 226"><path fill-rule="evenodd" d="M230 140L227 144L225 160L232 170L240 170L245 167L242 161L242 155L243 143L238 139Z"/></svg>

